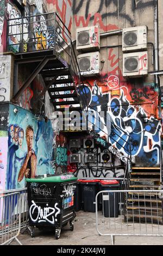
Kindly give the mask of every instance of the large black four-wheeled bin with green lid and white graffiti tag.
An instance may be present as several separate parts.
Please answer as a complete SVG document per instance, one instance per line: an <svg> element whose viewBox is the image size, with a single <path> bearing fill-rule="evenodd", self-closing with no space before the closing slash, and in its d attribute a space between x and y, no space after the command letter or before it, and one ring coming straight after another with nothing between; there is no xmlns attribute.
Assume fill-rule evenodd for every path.
<svg viewBox="0 0 163 256"><path fill-rule="evenodd" d="M73 230L74 185L77 178L73 174L51 175L48 177L26 179L29 206L29 225L31 236L34 227L54 229L59 239L61 228L70 222Z"/></svg>

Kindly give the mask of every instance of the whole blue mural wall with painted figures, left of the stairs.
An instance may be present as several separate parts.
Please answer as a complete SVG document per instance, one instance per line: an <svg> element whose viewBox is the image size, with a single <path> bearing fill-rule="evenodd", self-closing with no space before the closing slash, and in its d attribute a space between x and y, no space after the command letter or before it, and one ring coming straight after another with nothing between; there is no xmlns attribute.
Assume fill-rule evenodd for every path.
<svg viewBox="0 0 163 256"><path fill-rule="evenodd" d="M10 105L8 132L7 189L24 187L25 177L54 173L50 120L36 120L31 112Z"/></svg>

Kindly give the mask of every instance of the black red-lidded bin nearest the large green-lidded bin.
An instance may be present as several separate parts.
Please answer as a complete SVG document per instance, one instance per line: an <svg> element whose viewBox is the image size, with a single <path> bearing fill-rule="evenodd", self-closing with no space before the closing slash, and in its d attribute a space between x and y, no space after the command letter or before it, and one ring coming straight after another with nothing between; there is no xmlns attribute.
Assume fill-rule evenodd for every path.
<svg viewBox="0 0 163 256"><path fill-rule="evenodd" d="M99 192L99 180L82 180L83 194L83 210L88 212L96 212L96 205L94 204L96 194Z"/></svg>

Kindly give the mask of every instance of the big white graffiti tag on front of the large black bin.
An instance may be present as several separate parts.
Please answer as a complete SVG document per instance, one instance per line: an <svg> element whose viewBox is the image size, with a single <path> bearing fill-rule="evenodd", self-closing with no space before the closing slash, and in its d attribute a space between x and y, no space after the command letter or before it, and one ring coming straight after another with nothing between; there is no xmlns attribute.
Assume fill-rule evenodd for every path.
<svg viewBox="0 0 163 256"><path fill-rule="evenodd" d="M36 205L36 203L32 200L32 205L29 209L29 216L33 222L49 222L54 224L57 222L57 216L60 214L60 209L57 207L58 203L54 204L54 208L48 207L41 208L41 206Z"/></svg>

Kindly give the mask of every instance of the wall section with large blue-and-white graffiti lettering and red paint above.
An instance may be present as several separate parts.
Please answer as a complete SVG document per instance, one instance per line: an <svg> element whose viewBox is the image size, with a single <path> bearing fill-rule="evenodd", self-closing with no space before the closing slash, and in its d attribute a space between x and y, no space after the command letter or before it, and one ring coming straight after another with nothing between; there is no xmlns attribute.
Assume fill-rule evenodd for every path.
<svg viewBox="0 0 163 256"><path fill-rule="evenodd" d="M141 78L130 82L124 80L121 68L117 65L119 58L113 48L109 50L108 56L108 64L112 69L108 74L84 79L85 89L82 92L96 111L95 125L99 118L98 112L107 112L112 120L109 142L127 156L127 133L133 141L131 154L136 157L137 164L159 166L161 125L155 84ZM103 123L106 124L104 120ZM107 127L103 126L99 134L108 139L108 132Z"/></svg>

